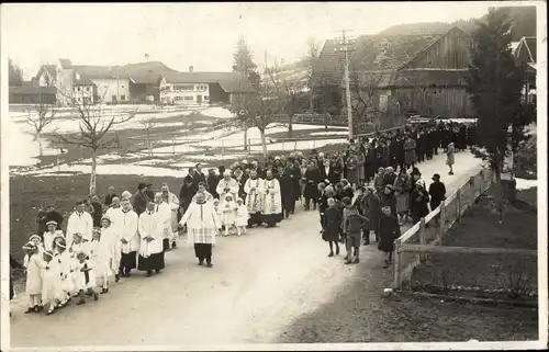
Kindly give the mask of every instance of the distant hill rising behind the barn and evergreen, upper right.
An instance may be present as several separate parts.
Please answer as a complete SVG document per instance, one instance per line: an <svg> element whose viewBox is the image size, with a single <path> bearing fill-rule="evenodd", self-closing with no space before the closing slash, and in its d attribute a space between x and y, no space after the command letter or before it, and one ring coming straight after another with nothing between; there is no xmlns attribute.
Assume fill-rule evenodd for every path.
<svg viewBox="0 0 549 352"><path fill-rule="evenodd" d="M507 11L511 21L514 24L513 41L519 41L523 36L536 35L536 8L535 7L505 7L500 8L501 11ZM483 21L486 15L478 19ZM458 20L452 23L445 22L423 22L423 23L405 23L393 25L379 34L406 35L406 34L425 34L425 33L445 33L453 26L458 26L466 32L472 32L475 29L477 19Z"/></svg>

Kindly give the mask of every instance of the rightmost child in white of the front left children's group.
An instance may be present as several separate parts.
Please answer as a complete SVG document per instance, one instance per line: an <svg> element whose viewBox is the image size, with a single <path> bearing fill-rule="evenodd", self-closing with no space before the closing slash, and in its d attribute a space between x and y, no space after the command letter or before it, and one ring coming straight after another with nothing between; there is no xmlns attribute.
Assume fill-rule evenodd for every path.
<svg viewBox="0 0 549 352"><path fill-rule="evenodd" d="M109 218L103 218L103 223L110 223ZM103 229L105 231L108 224L103 224ZM111 251L110 251L109 238L102 236L101 230L94 230L92 234L92 239L88 246L89 259L91 266L94 269L96 280L98 285L101 286L101 293L109 292L109 276L112 274L110 266Z"/></svg>

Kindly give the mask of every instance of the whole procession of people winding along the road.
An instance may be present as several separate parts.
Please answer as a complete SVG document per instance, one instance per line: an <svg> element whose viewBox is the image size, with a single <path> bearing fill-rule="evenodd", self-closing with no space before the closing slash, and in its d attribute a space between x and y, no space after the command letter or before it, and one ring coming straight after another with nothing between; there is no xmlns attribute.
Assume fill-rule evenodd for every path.
<svg viewBox="0 0 549 352"><path fill-rule="evenodd" d="M418 222L444 200L440 174L426 189L418 163L447 154L450 174L453 154L474 145L474 126L463 124L406 125L373 138L350 140L347 150L312 150L234 162L228 168L189 168L179 196L163 183L141 182L136 192L113 188L101 203L97 195L76 203L65 232L54 205L38 213L38 234L25 251L26 313L47 315L99 299L110 281L127 279L134 270L155 276L166 269L167 251L180 234L192 243L198 264L213 266L217 236L249 236L254 227L277 227L290 218L301 201L317 211L328 257L346 249L347 264L359 262L360 246L370 234L392 261L393 241L408 219ZM335 249L335 251L334 251ZM12 263L13 265L16 264Z"/></svg>

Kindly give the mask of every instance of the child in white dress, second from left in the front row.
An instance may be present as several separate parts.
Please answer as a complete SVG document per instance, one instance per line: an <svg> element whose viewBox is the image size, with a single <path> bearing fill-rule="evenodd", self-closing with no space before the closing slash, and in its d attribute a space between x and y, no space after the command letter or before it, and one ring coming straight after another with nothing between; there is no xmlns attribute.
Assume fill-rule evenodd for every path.
<svg viewBox="0 0 549 352"><path fill-rule="evenodd" d="M46 316L55 311L56 306L60 305L61 277L59 271L59 261L57 256L51 251L44 251L42 254L45 263L42 276L42 304L47 308Z"/></svg>

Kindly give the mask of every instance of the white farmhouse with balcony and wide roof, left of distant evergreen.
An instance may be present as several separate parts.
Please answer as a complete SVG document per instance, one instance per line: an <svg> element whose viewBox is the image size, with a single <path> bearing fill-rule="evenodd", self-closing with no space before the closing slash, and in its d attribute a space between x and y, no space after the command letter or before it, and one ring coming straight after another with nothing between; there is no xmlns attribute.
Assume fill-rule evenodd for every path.
<svg viewBox="0 0 549 352"><path fill-rule="evenodd" d="M232 102L234 94L253 92L235 72L173 72L159 78L160 102L169 105L209 105Z"/></svg>

